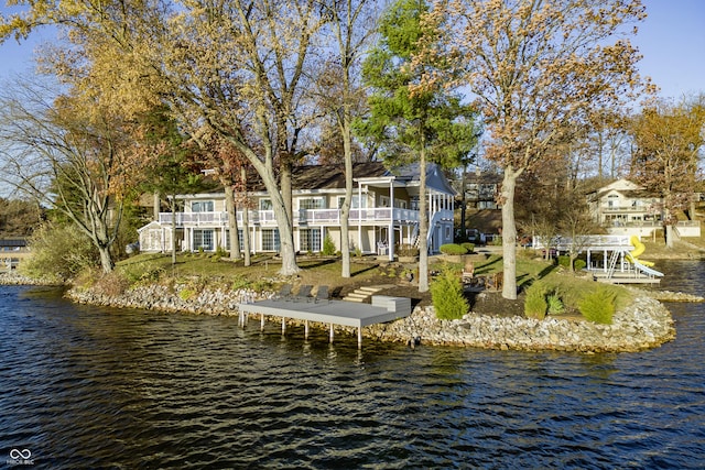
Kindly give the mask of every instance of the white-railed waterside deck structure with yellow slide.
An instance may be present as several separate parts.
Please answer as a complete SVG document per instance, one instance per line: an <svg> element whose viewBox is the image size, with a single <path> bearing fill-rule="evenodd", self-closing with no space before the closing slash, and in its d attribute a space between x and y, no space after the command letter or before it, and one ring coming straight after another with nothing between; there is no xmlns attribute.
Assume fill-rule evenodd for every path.
<svg viewBox="0 0 705 470"><path fill-rule="evenodd" d="M541 241L536 242L538 248ZM658 284L663 273L653 263L639 260L644 248L638 237L584 236L575 239L558 237L551 243L558 252L576 250L587 253L587 271L596 281L612 284Z"/></svg>

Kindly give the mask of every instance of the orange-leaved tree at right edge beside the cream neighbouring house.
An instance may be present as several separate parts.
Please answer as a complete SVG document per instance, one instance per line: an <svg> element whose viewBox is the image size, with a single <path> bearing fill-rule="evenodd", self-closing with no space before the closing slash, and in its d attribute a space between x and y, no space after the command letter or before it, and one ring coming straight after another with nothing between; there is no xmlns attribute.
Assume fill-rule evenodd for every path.
<svg viewBox="0 0 705 470"><path fill-rule="evenodd" d="M679 210L692 200L705 145L705 95L680 103L659 101L631 125L631 176L663 199L666 247L673 248Z"/></svg>

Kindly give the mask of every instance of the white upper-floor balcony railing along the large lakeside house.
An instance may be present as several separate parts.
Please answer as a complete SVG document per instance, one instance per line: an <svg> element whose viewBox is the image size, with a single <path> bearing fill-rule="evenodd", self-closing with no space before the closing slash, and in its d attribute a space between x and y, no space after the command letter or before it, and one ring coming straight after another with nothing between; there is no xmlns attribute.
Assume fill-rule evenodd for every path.
<svg viewBox="0 0 705 470"><path fill-rule="evenodd" d="M453 220L452 210L441 210L443 219ZM447 214L446 214L447 212ZM176 212L176 227L226 227L228 225L227 212ZM238 223L242 222L243 214L237 212ZM384 223L392 220L402 223L415 223L419 221L419 211L401 208L362 208L350 209L348 218L354 223ZM262 227L275 227L276 219L273 210L250 210L251 225ZM172 225L172 212L160 212L159 222L163 226ZM294 226L336 226L340 223L339 209L301 209L294 212Z"/></svg>

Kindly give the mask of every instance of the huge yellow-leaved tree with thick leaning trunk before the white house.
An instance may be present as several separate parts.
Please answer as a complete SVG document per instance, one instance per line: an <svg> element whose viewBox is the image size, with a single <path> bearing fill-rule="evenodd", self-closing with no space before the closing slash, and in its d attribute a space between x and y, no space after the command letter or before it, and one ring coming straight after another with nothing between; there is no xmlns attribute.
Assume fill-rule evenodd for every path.
<svg viewBox="0 0 705 470"><path fill-rule="evenodd" d="M40 24L66 28L84 53L83 62L68 64L70 77L83 80L88 69L126 112L141 102L167 102L192 139L215 133L245 155L272 200L280 272L299 272L291 167L302 157L312 111L304 70L315 67L312 51L327 21L318 0L28 3L26 14L0 24L1 39Z"/></svg>

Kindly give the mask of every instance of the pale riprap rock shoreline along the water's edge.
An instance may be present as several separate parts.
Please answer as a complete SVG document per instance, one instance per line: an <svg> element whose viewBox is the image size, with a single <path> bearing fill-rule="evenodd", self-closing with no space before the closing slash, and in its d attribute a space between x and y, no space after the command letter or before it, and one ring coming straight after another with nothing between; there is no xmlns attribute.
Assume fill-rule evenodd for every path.
<svg viewBox="0 0 705 470"><path fill-rule="evenodd" d="M26 284L20 281L0 277L0 283ZM402 342L411 347L434 345L525 351L629 352L655 348L675 338L673 318L660 300L704 300L703 297L682 293L636 292L636 300L615 314L612 325L598 325L574 317L546 317L536 320L471 311L459 320L440 320L435 317L433 307L416 307L406 318L364 328L362 335L367 339ZM82 304L231 316L238 315L239 303L272 295L273 293L259 294L250 289L204 289L196 294L180 286L170 288L156 284L131 288L117 296L77 288L66 293L73 302ZM291 324L297 325L300 321L291 320ZM321 325L321 328L327 329L328 326ZM336 331L355 335L355 330L348 327L336 327Z"/></svg>

